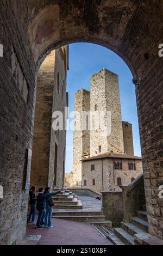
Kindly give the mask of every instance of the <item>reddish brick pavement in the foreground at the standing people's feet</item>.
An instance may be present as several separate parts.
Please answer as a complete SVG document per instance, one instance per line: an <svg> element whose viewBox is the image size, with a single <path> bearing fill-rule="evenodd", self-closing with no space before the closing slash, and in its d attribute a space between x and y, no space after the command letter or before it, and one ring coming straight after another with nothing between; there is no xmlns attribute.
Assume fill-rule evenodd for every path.
<svg viewBox="0 0 163 256"><path fill-rule="evenodd" d="M27 235L41 235L40 245L112 245L90 224L52 218L52 229L28 224Z"/></svg>

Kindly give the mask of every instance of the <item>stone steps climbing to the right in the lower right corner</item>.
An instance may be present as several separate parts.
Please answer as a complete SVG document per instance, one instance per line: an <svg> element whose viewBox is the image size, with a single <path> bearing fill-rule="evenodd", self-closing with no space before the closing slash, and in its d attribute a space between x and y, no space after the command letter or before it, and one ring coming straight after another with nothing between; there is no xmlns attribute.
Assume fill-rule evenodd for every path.
<svg viewBox="0 0 163 256"><path fill-rule="evenodd" d="M135 235L147 233L147 212L137 211L137 216L131 217L130 223L121 222L121 228L115 228L114 234L107 235L107 238L114 245L135 245Z"/></svg>

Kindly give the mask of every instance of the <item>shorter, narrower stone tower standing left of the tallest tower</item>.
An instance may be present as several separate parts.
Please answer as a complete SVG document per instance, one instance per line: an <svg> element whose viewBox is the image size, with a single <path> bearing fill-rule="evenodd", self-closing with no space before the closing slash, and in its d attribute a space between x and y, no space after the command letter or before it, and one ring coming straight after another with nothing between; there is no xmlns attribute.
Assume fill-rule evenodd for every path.
<svg viewBox="0 0 163 256"><path fill-rule="evenodd" d="M90 111L90 92L81 89L74 95L74 133L73 133L73 175L74 187L82 186L82 162L83 156L90 155L90 131L86 129L85 115ZM85 126L85 127L84 127ZM85 130L83 130L85 129Z"/></svg>

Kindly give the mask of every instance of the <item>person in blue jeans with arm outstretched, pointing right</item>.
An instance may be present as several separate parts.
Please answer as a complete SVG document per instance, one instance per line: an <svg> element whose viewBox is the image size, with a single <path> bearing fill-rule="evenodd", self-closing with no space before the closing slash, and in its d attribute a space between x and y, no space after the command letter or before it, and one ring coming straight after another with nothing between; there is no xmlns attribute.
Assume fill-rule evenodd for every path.
<svg viewBox="0 0 163 256"><path fill-rule="evenodd" d="M45 227L46 228L53 228L51 223L52 218L52 209L53 209L53 199L52 196L57 195L60 193L61 190L51 193L51 188L46 187L44 194L46 195L46 214L45 214Z"/></svg>

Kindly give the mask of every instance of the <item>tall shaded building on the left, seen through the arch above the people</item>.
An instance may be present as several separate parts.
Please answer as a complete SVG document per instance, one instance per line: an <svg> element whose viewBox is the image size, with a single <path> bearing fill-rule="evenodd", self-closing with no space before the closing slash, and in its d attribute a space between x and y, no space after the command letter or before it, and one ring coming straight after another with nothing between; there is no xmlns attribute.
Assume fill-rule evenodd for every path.
<svg viewBox="0 0 163 256"><path fill-rule="evenodd" d="M66 131L57 129L53 118L60 111L65 120L68 106L66 77L68 45L52 51L37 74L34 140L30 184L39 187L64 186ZM53 123L54 122L54 123ZM53 127L53 125L55 127Z"/></svg>

